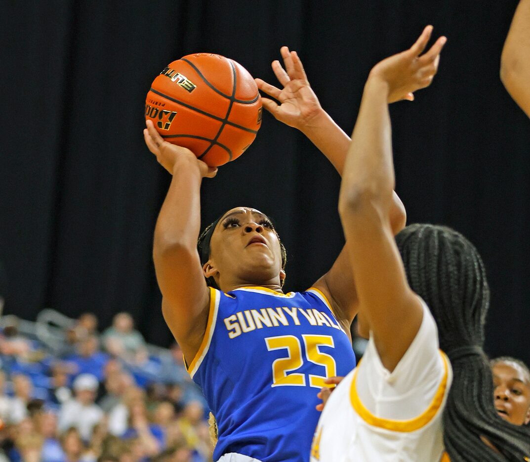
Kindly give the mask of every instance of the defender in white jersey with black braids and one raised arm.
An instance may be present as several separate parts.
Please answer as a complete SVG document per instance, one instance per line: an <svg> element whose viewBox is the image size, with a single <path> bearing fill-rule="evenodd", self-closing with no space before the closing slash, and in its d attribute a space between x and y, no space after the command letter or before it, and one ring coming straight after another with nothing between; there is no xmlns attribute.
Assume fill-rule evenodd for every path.
<svg viewBox="0 0 530 462"><path fill-rule="evenodd" d="M478 252L441 226L412 225L394 239L388 220L388 104L431 83L446 41L420 56L431 32L377 64L365 85L339 210L369 341L323 410L313 461L438 462L449 460L444 447L453 462L530 455L528 433L493 407L482 350L489 289Z"/></svg>

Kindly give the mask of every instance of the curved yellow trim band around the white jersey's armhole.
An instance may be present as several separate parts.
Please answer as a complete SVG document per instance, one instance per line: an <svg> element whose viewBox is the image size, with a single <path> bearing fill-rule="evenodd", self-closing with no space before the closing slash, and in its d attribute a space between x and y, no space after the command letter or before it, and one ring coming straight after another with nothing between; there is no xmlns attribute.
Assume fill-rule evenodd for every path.
<svg viewBox="0 0 530 462"><path fill-rule="evenodd" d="M444 401L445 392L447 389L447 378L448 378L448 360L444 352L440 350L440 356L444 362L444 377L441 379L440 385L431 403L418 417L411 418L410 420L391 420L386 418L380 418L372 414L359 399L357 395L356 381L358 367L354 372L354 378L351 381L350 386L350 401L351 405L355 409L355 412L362 418L368 425L379 427L385 430L391 430L394 432L413 432L426 426L436 415L438 409Z"/></svg>

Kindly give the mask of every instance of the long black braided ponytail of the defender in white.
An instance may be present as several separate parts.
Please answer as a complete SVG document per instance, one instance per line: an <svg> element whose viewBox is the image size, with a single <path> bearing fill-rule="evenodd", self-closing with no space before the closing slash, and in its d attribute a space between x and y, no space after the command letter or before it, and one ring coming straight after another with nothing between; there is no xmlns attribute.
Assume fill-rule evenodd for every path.
<svg viewBox="0 0 530 462"><path fill-rule="evenodd" d="M408 226L396 243L410 287L429 306L440 347L453 366L443 415L451 461L525 460L530 432L502 420L493 404L493 379L482 349L490 293L478 251L455 230L434 225Z"/></svg>

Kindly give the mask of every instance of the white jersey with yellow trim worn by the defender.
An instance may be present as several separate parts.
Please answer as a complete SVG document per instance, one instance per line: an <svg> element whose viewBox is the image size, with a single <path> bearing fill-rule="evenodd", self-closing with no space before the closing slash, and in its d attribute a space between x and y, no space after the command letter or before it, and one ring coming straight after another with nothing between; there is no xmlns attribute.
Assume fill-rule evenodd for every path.
<svg viewBox="0 0 530 462"><path fill-rule="evenodd" d="M372 338L363 360L331 393L316 428L312 462L438 462L441 415L452 369L438 349L438 330L422 301L423 320L392 372Z"/></svg>

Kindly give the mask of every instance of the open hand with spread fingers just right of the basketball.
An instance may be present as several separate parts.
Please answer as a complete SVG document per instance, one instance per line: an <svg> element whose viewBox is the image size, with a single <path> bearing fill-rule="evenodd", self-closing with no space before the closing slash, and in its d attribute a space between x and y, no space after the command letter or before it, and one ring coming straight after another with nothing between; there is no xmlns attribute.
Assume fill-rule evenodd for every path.
<svg viewBox="0 0 530 462"><path fill-rule="evenodd" d="M280 122L295 129L302 130L311 124L311 120L322 110L320 102L307 81L302 61L296 52L281 47L281 57L284 58L285 69L279 61L272 62L278 81L284 86L282 90L261 79L255 79L258 88L280 104L269 98L262 98L263 106Z"/></svg>

